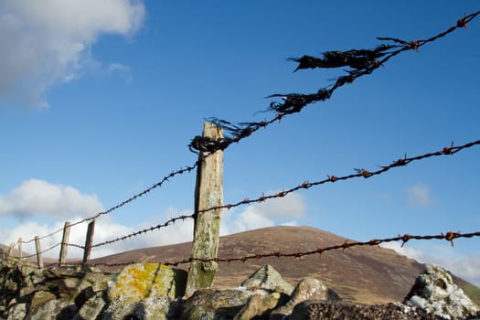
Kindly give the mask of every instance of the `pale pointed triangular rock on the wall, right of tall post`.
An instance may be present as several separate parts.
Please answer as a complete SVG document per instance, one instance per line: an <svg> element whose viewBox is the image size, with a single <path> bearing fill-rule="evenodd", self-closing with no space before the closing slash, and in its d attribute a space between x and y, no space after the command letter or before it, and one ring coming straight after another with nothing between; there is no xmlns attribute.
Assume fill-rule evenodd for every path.
<svg viewBox="0 0 480 320"><path fill-rule="evenodd" d="M240 283L240 286L246 288L261 288L276 293L285 293L290 295L293 292L293 286L283 280L279 272L277 272L270 264L264 264L259 270L253 272L251 276Z"/></svg>

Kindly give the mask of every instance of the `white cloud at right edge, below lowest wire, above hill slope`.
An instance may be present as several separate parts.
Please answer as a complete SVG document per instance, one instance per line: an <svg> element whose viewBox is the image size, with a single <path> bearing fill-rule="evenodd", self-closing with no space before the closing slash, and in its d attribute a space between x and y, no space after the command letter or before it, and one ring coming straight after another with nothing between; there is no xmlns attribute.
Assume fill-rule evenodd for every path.
<svg viewBox="0 0 480 320"><path fill-rule="evenodd" d="M456 276L480 286L480 255L458 255L449 251L448 245L447 248L432 246L428 252L409 246L401 247L400 242L383 243L381 246L393 249L421 263L438 264Z"/></svg>

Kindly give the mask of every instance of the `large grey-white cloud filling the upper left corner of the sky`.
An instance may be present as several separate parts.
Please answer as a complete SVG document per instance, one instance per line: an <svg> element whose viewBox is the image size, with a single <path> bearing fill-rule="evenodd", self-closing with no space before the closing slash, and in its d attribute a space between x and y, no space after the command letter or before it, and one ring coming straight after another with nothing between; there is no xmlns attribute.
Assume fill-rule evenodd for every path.
<svg viewBox="0 0 480 320"><path fill-rule="evenodd" d="M47 106L45 92L80 75L98 37L130 37L144 16L138 0L1 1L0 99Z"/></svg>

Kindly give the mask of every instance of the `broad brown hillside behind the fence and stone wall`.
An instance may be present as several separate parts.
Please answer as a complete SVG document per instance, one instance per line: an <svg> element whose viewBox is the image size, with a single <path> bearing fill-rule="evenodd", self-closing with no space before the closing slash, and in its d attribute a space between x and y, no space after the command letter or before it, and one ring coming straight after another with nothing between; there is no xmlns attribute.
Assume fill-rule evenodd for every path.
<svg viewBox="0 0 480 320"><path fill-rule="evenodd" d="M272 251L312 251L318 247L341 244L345 240L330 232L309 227L255 229L221 237L219 258ZM190 246L188 242L127 251L90 262L181 261L189 256ZM272 264L292 284L305 276L315 277L334 289L344 300L367 304L401 301L422 270L420 263L395 251L379 247L356 247L354 250L327 251L321 257L312 255L301 259L264 258L246 262L220 262L214 287L236 287L264 263ZM186 270L187 267L187 264L180 266Z"/></svg>

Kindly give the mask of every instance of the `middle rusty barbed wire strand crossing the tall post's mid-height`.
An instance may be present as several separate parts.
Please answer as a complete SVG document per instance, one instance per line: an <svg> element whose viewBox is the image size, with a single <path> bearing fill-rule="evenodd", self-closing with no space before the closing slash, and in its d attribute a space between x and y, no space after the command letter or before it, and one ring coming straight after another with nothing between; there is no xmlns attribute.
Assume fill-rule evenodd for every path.
<svg viewBox="0 0 480 320"><path fill-rule="evenodd" d="M310 187L323 185L323 184L328 183L328 182L333 183L333 182L336 182L336 181L347 180L347 179L352 179L352 178L357 178L357 177L368 178L368 177L371 177L371 176L378 176L380 174L383 174L383 173L389 171L391 168L394 168L394 167L406 166L413 161L422 160L422 159L429 158L429 157L432 157L432 156L454 155L454 154L456 154L456 153L458 153L458 152L460 152L464 149L471 148L471 147L473 147L475 145L478 145L478 144L480 144L480 140L470 142L470 143L467 143L467 144L463 144L463 145L458 145L458 146L455 146L452 143L452 144L450 144L450 146L443 147L442 150L439 150L437 152L432 152L432 153L428 153L428 154L424 154L424 155L416 155L416 156L412 156L412 157L407 157L407 155L404 155L403 158L400 158L398 160L393 161L390 165L380 166L380 169L376 170L376 171L368 171L368 170L362 168L362 169L355 169L355 171L357 172L356 174L351 174L351 175L347 175L347 176L327 176L326 179L320 180L320 181L315 181L315 182L305 181L304 183L302 183L302 184L300 184L296 187L292 187L288 190L283 190L283 191L274 193L272 195L265 196L265 195L262 194L261 197L257 197L257 198L254 198L254 199L245 198L245 199L240 200L236 203L232 203L232 204L230 203L230 204L226 204L226 205L222 205L222 206L205 208L205 209L202 209L202 210L198 210L197 213L194 212L191 215L183 215L183 216L179 216L179 217L176 217L176 218L171 218L171 219L165 221L162 224L158 224L158 225L150 227L150 228L134 231L132 233L129 233L127 235L124 235L124 236L121 236L121 237L118 237L118 238L115 238L115 239L112 239L112 240L107 240L107 241L103 241L103 242L94 244L94 245L91 246L91 248L100 247L100 246L103 246L103 245L106 245L106 244L112 244L112 243L120 241L120 240L127 240L129 238L136 237L136 236L141 235L143 233L146 233L148 231L154 231L155 229L165 228L165 227L168 227L171 224L174 224L177 220L180 220L180 219L181 220L195 219L197 214L205 213L205 212L208 212L208 211L211 211L211 210L218 210L218 209L223 209L223 208L230 209L230 208L235 208L235 207L239 207L239 206L243 206L243 205L249 205L249 204L252 204L252 203L263 202L263 201L266 201L268 199L272 199L272 198L275 198L275 197L285 197L288 194L293 193L294 191L298 191L300 189L309 189Z"/></svg>

